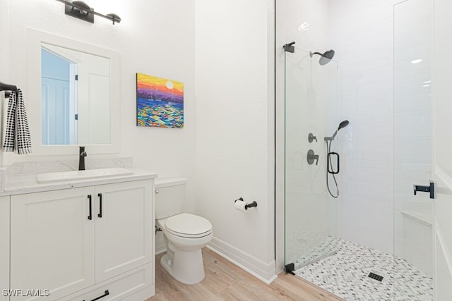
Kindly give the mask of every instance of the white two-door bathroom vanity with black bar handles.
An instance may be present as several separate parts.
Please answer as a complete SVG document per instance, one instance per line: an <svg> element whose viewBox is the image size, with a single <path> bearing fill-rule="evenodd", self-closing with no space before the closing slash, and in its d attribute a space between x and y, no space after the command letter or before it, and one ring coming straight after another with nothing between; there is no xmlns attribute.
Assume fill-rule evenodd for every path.
<svg viewBox="0 0 452 301"><path fill-rule="evenodd" d="M46 183L33 175L0 192L1 301L154 295L157 174L130 170Z"/></svg>

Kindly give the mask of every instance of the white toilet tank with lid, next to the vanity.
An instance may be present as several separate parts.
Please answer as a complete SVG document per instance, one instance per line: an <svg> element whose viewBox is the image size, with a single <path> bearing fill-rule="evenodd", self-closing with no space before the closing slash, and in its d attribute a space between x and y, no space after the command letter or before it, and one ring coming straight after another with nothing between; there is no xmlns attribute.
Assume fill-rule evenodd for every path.
<svg viewBox="0 0 452 301"><path fill-rule="evenodd" d="M155 179L155 219L182 213L186 178Z"/></svg>

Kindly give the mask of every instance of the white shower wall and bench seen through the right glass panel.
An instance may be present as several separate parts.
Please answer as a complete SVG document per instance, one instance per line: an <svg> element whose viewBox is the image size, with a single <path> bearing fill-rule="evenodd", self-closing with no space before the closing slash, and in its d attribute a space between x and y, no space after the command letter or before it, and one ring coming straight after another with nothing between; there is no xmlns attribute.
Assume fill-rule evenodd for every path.
<svg viewBox="0 0 452 301"><path fill-rule="evenodd" d="M432 4L394 8L394 252L429 276L433 202L428 193L415 196L412 185L432 180Z"/></svg>

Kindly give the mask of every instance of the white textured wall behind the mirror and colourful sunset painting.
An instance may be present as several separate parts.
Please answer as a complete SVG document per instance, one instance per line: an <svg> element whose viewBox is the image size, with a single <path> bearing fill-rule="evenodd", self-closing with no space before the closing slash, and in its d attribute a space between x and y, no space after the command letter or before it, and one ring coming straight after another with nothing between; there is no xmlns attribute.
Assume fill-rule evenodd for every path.
<svg viewBox="0 0 452 301"><path fill-rule="evenodd" d="M194 211L194 1L88 1L100 13L117 13L122 19L117 25L100 17L95 17L95 23L91 24L66 16L64 4L57 1L1 2L2 7L10 6L11 39L3 39L0 50L0 54L10 52L7 59L10 72L5 75L1 70L0 81L22 88L25 102L40 100L39 96L26 91L27 27L118 51L121 54L121 120L113 121L121 123L121 152L117 155L133 156L136 167L155 171L160 177L187 177L186 210ZM4 14L7 13L2 10L1 16ZM1 19L0 24L4 26L3 17ZM4 50L5 47L8 50ZM184 82L184 129L136 127L137 72ZM89 147L87 152L88 156L93 156ZM77 154L70 158L3 156L4 164L78 157Z"/></svg>

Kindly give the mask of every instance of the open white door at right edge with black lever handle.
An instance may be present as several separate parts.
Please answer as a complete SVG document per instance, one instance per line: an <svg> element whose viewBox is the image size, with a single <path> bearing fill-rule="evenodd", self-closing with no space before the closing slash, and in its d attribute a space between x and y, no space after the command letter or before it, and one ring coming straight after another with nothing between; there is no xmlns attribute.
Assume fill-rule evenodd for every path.
<svg viewBox="0 0 452 301"><path fill-rule="evenodd" d="M434 0L433 180L436 300L452 300L452 1Z"/></svg>

